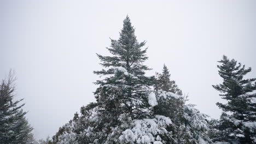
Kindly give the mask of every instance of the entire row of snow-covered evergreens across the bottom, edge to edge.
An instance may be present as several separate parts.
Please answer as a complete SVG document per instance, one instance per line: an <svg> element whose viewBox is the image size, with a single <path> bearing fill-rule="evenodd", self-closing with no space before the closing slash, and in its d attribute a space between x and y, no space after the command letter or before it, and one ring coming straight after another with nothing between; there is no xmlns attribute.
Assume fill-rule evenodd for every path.
<svg viewBox="0 0 256 144"><path fill-rule="evenodd" d="M100 76L95 82L96 102L82 106L47 140L34 140L22 99L13 99L12 76L3 80L0 143L256 143L256 79L244 78L251 68L226 56L219 61L223 82L213 88L226 103L217 103L223 112L213 119L189 104L165 64L159 73L146 76L146 41L137 41L129 16L119 39L110 40L111 55L97 54L102 69L94 71Z"/></svg>

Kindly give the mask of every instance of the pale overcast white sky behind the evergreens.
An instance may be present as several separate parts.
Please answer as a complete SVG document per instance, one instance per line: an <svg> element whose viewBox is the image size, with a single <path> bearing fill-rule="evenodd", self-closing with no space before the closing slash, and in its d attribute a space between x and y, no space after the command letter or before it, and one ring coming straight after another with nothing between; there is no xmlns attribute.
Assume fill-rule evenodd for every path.
<svg viewBox="0 0 256 144"><path fill-rule="evenodd" d="M213 118L222 55L256 77L256 1L0 1L0 78L15 70L37 139L95 100L95 53L108 55L127 14L138 40L147 40L148 75L165 63L189 103Z"/></svg>

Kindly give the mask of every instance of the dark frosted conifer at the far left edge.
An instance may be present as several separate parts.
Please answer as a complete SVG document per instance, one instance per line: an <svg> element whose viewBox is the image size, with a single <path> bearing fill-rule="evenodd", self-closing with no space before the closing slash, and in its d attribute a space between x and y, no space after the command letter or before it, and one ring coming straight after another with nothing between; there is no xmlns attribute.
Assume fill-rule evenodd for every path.
<svg viewBox="0 0 256 144"><path fill-rule="evenodd" d="M21 100L14 100L14 77L9 73L7 80L0 84L0 142L8 144L33 143L33 128L28 123L22 111Z"/></svg>

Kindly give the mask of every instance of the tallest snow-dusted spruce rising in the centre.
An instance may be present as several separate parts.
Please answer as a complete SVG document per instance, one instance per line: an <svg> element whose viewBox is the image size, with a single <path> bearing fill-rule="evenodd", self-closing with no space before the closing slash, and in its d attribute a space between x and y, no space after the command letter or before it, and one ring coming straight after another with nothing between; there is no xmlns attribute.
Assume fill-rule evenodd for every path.
<svg viewBox="0 0 256 144"><path fill-rule="evenodd" d="M148 59L147 49L143 49L145 41L139 43L135 36L135 29L131 25L129 16L123 23L118 40L111 39L107 50L112 56L98 55L101 65L106 68L94 71L95 74L105 76L98 80L95 95L98 113L102 119L104 134L112 133L112 127L130 119L146 118L148 110L149 86L153 85L153 77L145 76L149 70L143 62ZM120 116L125 115L122 119ZM130 121L129 120L129 121ZM106 125L108 124L108 125ZM98 127L102 131L102 128ZM105 138L106 139L106 138Z"/></svg>

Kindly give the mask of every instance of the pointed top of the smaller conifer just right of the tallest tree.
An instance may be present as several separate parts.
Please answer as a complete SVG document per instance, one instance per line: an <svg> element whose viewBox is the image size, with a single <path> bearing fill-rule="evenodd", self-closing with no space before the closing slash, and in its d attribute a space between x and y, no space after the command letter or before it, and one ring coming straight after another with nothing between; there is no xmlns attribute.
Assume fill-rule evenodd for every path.
<svg viewBox="0 0 256 144"><path fill-rule="evenodd" d="M156 73L156 89L162 89L162 91L172 92L174 94L182 95L181 89L178 88L176 82L174 80L170 80L170 71L164 64L164 68L162 69L162 73Z"/></svg>

